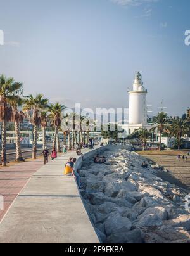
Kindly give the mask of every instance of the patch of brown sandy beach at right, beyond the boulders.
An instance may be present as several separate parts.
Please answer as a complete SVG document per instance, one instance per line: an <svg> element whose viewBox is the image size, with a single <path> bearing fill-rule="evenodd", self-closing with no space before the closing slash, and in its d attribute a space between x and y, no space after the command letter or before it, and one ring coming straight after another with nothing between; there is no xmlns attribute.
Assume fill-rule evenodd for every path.
<svg viewBox="0 0 190 256"><path fill-rule="evenodd" d="M175 155L143 155L143 157L170 170L170 173L160 172L159 174L165 181L190 191L190 158L187 162L183 160L178 162Z"/></svg>

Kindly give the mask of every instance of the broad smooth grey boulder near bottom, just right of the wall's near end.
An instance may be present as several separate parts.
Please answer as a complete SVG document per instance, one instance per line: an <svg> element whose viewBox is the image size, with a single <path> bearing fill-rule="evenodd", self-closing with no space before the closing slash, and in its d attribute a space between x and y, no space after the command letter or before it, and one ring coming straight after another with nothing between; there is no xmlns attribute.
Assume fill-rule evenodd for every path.
<svg viewBox="0 0 190 256"><path fill-rule="evenodd" d="M130 231L132 223L129 219L122 217L118 213L113 213L105 221L105 231L109 236L112 233Z"/></svg>

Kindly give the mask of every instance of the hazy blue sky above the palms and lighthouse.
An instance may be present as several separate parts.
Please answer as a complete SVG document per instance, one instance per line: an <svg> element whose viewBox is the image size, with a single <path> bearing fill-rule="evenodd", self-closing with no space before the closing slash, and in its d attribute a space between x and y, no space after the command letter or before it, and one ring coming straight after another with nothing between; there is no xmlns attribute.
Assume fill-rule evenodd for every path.
<svg viewBox="0 0 190 256"><path fill-rule="evenodd" d="M82 107L128 107L143 71L148 104L172 115L190 106L187 0L0 0L0 74L25 94Z"/></svg>

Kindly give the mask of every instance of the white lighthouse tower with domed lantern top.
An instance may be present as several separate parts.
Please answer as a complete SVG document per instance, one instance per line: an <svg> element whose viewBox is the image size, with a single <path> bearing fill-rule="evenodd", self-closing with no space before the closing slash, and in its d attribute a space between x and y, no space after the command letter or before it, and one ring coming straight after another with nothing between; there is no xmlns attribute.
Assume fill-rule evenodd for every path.
<svg viewBox="0 0 190 256"><path fill-rule="evenodd" d="M129 92L129 133L139 128L149 128L147 123L147 89L143 86L142 75L137 72L133 91Z"/></svg>

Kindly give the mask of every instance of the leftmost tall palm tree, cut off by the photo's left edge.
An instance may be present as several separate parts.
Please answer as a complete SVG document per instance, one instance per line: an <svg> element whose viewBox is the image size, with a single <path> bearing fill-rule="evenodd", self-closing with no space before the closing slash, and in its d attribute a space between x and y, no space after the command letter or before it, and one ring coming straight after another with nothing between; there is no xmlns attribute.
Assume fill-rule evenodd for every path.
<svg viewBox="0 0 190 256"><path fill-rule="evenodd" d="M2 122L1 159L2 166L6 166L6 122L11 121L13 109L8 101L11 96L22 94L22 84L13 78L0 76L0 122Z"/></svg>

